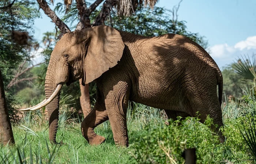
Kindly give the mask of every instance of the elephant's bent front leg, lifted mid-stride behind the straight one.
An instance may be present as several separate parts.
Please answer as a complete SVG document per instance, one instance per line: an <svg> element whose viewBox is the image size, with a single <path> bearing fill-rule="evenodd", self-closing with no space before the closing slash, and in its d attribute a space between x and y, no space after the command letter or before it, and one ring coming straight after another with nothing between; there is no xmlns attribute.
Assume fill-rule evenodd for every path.
<svg viewBox="0 0 256 164"><path fill-rule="evenodd" d="M105 107L98 104L95 104L93 110L84 118L81 125L82 134L90 145L98 145L106 140L104 137L97 135L94 128L108 119Z"/></svg>

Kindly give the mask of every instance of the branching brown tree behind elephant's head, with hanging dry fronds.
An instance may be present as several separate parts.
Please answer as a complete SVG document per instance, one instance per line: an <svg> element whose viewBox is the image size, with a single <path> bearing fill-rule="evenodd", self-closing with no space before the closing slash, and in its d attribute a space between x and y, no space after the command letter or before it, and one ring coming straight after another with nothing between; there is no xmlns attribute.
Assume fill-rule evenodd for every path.
<svg viewBox="0 0 256 164"><path fill-rule="evenodd" d="M113 9L117 10L118 16L128 16L131 13L134 13L137 8L149 5L151 8L154 7L155 3L158 0L95 0L89 7L85 0L76 0L76 8L78 11L79 16L79 23L77 24L75 30L82 30L84 28L89 28L93 26L98 26L104 24L106 19L109 17L111 22L111 15L110 12ZM44 11L46 15L48 15L52 22L56 24L59 28L61 35L67 32L71 32L70 28L65 24L57 15L56 13L50 9L48 3L45 0L37 0L39 7ZM53 0L50 0L53 4ZM101 10L98 15L95 17L94 20L90 20L90 15L96 11L96 8L101 4ZM64 0L64 4L66 5L65 10L66 13L69 11L73 1L72 0ZM89 85L86 84L85 86L82 85L82 79L79 80L80 83L80 90L81 90L81 97L80 97L80 104L83 110L84 117L90 112L90 95L89 95Z"/></svg>

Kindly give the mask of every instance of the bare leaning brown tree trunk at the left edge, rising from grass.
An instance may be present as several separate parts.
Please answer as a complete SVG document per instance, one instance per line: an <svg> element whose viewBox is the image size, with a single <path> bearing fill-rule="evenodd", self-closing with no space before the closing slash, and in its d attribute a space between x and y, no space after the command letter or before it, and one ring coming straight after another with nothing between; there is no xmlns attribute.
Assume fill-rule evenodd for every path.
<svg viewBox="0 0 256 164"><path fill-rule="evenodd" d="M4 83L0 69L0 142L6 145L8 142L14 144L12 126L6 106Z"/></svg>

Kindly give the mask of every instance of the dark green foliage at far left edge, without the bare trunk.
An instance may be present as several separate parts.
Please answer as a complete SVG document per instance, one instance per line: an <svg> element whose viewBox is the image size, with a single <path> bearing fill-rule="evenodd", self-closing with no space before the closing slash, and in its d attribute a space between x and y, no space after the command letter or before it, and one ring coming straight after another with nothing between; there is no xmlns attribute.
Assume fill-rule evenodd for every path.
<svg viewBox="0 0 256 164"><path fill-rule="evenodd" d="M9 0L1 0L0 6L7 6ZM31 31L33 20L39 16L34 2L29 0L16 0L10 8L0 9L0 67L2 71L4 88L14 77L14 70L18 69L19 64L29 56L28 47L14 42L12 39L13 31ZM11 119L14 119L14 106L19 101L14 96L14 89L9 89L5 93L7 107Z"/></svg>

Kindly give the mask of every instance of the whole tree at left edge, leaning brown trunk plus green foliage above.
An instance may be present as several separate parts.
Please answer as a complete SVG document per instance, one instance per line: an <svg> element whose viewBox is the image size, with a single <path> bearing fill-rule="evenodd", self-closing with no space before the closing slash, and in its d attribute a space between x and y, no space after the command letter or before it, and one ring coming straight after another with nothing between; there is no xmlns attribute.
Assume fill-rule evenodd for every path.
<svg viewBox="0 0 256 164"><path fill-rule="evenodd" d="M29 0L0 1L0 142L14 143L9 114L13 111L14 97L11 89L5 93L20 62L29 57L30 36L33 20L38 12ZM29 22L29 23L27 23ZM24 81L24 79L23 79ZM13 114L13 113L12 113Z"/></svg>

